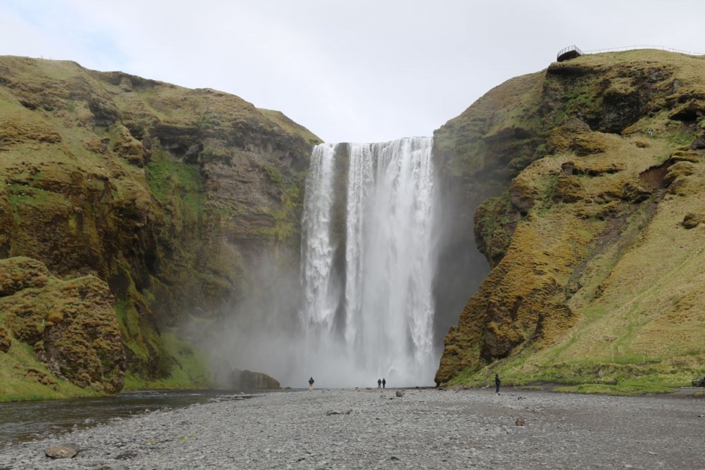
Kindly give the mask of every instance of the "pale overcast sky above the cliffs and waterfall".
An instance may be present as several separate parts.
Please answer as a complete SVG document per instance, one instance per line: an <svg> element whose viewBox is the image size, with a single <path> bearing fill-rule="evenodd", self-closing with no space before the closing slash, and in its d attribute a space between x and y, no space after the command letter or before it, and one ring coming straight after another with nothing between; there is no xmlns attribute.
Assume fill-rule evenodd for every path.
<svg viewBox="0 0 705 470"><path fill-rule="evenodd" d="M703 0L0 0L0 55L278 109L327 142L431 135L563 47L705 52Z"/></svg>

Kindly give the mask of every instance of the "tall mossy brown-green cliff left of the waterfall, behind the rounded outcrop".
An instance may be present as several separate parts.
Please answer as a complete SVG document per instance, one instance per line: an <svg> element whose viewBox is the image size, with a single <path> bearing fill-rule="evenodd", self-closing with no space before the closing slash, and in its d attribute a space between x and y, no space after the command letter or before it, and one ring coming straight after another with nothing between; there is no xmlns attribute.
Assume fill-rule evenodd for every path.
<svg viewBox="0 0 705 470"><path fill-rule="evenodd" d="M215 90L2 56L0 258L106 284L97 295L115 304L128 370L168 377L184 365L164 332L271 288L257 277L262 258L298 265L305 171L318 142L283 114ZM51 312L27 320L42 335L23 336L17 315L2 309L4 354L30 344L53 371L42 351L71 315ZM101 361L124 370L122 350L113 352ZM105 390L119 390L111 380Z"/></svg>

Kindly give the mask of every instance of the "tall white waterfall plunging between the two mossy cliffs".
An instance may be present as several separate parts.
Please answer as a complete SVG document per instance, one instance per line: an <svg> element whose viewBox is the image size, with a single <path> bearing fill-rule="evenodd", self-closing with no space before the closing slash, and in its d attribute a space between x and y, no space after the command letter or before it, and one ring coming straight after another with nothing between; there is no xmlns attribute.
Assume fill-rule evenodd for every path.
<svg viewBox="0 0 705 470"><path fill-rule="evenodd" d="M431 385L432 138L320 144L302 221L303 364L331 387Z"/></svg>

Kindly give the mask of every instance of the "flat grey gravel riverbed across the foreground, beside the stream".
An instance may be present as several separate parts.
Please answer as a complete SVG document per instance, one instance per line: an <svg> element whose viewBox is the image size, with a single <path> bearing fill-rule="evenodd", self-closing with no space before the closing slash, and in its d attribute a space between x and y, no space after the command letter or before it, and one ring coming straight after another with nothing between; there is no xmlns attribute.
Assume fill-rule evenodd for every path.
<svg viewBox="0 0 705 470"><path fill-rule="evenodd" d="M260 394L0 449L4 469L705 469L705 399L541 391ZM73 458L47 448L71 443Z"/></svg>

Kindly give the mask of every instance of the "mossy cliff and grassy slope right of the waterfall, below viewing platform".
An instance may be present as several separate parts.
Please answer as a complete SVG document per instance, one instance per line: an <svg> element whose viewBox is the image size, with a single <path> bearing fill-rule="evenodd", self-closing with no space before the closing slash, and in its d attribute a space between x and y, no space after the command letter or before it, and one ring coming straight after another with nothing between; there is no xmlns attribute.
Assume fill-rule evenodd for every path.
<svg viewBox="0 0 705 470"><path fill-rule="evenodd" d="M500 371L645 390L701 375L704 77L701 57L582 56L436 131L467 204L494 196L474 213L492 269L446 335L437 383Z"/></svg>

